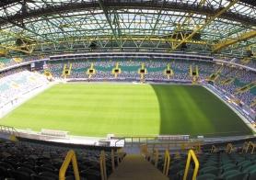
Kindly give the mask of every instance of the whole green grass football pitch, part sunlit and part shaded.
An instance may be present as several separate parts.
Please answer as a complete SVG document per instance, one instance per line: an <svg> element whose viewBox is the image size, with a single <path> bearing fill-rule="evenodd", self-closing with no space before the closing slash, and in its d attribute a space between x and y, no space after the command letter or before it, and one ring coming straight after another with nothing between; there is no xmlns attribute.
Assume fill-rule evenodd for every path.
<svg viewBox="0 0 256 180"><path fill-rule="evenodd" d="M0 124L93 137L252 133L204 87L176 84L56 84L0 119Z"/></svg>

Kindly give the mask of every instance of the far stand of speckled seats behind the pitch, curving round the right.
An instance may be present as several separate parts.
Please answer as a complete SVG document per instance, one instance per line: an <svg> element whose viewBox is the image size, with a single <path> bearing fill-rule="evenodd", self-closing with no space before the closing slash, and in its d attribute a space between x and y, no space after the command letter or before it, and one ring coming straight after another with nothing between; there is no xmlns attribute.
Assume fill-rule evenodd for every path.
<svg viewBox="0 0 256 180"><path fill-rule="evenodd" d="M87 78L87 69L91 64L94 64L96 74L92 75L91 79L111 79L114 75L111 73L116 63L122 70L122 73L118 74L115 78L125 80L139 80L140 75L138 70L141 64L145 62L145 68L147 73L145 74L145 80L158 80L158 81L192 81L192 77L189 73L190 66L198 66L199 68L199 81L206 81L206 79L213 73L221 69L221 74L215 80L215 86L227 91L231 95L241 100L243 103L250 105L256 96L256 87L251 88L249 91L241 94L236 94L236 90L245 84L250 84L256 79L256 73L237 67L219 65L213 62L199 62L199 61L142 61L142 60L90 60L90 61L69 61L72 63L72 70L68 78ZM49 62L49 70L54 77L62 77L64 62ZM173 70L173 75L169 78L164 74L168 64ZM228 81L229 82L228 82ZM227 83L224 83L227 82ZM256 107L252 107L256 110Z"/></svg>

